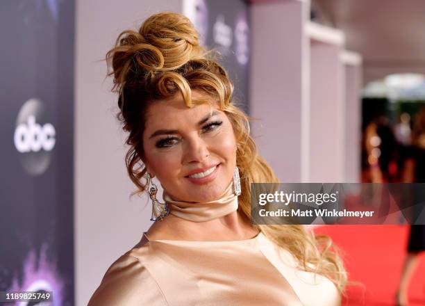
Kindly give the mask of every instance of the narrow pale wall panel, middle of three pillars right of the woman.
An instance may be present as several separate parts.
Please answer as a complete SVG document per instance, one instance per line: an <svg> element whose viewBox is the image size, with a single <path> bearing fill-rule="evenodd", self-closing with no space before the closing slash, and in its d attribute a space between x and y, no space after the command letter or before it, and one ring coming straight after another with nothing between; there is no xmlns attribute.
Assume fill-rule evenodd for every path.
<svg viewBox="0 0 425 306"><path fill-rule="evenodd" d="M344 71L341 47L310 46L310 182L344 181Z"/></svg>

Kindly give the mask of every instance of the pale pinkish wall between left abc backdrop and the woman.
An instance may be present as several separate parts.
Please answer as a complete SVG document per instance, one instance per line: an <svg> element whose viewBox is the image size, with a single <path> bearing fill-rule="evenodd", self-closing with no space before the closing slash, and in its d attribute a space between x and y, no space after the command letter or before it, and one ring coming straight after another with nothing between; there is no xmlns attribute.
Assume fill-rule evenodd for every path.
<svg viewBox="0 0 425 306"><path fill-rule="evenodd" d="M76 305L87 305L110 264L133 247L151 225L146 199L128 196L124 134L114 118L101 61L124 29L152 13L181 12L181 0L77 0L75 71L75 268ZM146 207L146 209L144 209Z"/></svg>

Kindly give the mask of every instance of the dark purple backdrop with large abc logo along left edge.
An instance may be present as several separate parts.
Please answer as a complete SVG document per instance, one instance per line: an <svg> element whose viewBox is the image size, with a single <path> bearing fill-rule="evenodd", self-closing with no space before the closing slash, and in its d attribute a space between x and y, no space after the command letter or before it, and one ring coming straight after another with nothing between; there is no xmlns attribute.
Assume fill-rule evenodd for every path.
<svg viewBox="0 0 425 306"><path fill-rule="evenodd" d="M1 1L0 33L0 291L74 305L74 1Z"/></svg>

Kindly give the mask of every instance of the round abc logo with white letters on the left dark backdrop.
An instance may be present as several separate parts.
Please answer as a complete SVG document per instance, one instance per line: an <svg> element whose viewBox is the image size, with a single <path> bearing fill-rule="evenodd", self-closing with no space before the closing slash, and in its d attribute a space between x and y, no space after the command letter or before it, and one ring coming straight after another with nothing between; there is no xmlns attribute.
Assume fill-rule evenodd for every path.
<svg viewBox="0 0 425 306"><path fill-rule="evenodd" d="M56 143L56 130L44 118L43 104L39 99L29 99L19 111L13 136L22 166L31 175L47 170L51 150Z"/></svg>

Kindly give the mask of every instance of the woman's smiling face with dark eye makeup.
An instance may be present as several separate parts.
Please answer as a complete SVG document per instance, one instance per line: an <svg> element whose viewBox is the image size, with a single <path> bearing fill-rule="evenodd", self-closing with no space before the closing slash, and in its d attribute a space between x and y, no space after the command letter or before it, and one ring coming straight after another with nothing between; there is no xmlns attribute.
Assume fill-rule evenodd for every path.
<svg viewBox="0 0 425 306"><path fill-rule="evenodd" d="M192 92L192 97L204 96ZM143 149L148 172L174 200L217 200L233 179L235 134L226 114L214 103L188 108L181 95L153 102L147 112Z"/></svg>

